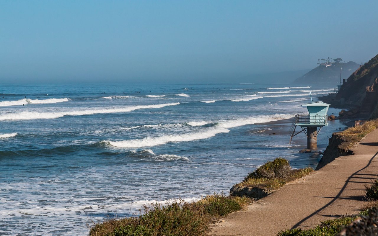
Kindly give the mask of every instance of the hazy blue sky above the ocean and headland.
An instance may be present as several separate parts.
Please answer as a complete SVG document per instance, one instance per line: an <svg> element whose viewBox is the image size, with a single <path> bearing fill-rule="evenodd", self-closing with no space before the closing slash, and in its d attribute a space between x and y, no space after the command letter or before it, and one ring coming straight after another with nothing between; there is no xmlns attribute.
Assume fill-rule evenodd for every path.
<svg viewBox="0 0 378 236"><path fill-rule="evenodd" d="M0 82L190 82L378 54L378 1L0 1Z"/></svg>

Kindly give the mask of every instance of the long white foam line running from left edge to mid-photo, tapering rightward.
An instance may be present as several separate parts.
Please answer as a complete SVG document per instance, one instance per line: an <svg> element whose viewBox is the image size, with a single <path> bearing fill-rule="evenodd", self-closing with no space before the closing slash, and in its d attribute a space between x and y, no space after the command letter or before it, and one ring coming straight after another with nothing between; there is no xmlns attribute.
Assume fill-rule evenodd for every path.
<svg viewBox="0 0 378 236"><path fill-rule="evenodd" d="M0 120L31 120L31 119L53 119L63 116L83 116L83 115L92 115L92 114L107 114L107 113L121 113L121 112L130 112L139 109L147 108L162 108L164 106L175 106L180 104L179 102L175 103L163 103L156 105L138 105L138 106L126 106L121 108L112 108L112 109L93 109L93 110L76 110L76 111L63 111L63 112L12 112L0 115Z"/></svg>

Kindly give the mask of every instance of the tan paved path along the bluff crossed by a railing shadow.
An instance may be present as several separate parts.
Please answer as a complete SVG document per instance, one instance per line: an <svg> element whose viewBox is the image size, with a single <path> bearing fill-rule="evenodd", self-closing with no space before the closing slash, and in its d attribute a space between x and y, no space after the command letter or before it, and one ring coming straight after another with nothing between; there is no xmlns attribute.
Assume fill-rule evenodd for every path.
<svg viewBox="0 0 378 236"><path fill-rule="evenodd" d="M365 187L378 177L378 129L310 176L288 184L212 227L209 235L274 236L280 230L311 228L335 215L356 214Z"/></svg>

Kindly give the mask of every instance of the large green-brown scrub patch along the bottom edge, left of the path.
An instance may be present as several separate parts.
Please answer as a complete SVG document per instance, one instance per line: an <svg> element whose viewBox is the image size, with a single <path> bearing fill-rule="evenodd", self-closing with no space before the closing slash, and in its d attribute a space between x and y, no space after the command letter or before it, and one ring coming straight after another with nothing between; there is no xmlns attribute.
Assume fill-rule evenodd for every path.
<svg viewBox="0 0 378 236"><path fill-rule="evenodd" d="M176 199L169 204L144 206L139 216L108 219L92 225L90 236L206 235L209 224L248 205L248 197L213 194L188 203Z"/></svg>

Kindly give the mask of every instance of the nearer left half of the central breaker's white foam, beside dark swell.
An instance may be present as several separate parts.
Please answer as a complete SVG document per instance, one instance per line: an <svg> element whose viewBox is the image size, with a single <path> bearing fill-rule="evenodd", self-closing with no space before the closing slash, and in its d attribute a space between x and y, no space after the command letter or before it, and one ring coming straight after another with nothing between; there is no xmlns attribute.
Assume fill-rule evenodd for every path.
<svg viewBox="0 0 378 236"><path fill-rule="evenodd" d="M177 134L177 135L163 135L160 137L146 137L144 139L132 139L123 141L107 141L108 144L120 148L141 148L153 147L163 145L169 142L187 142L199 139L207 139L219 133L228 133L229 130L221 127L212 128L203 132Z"/></svg>

